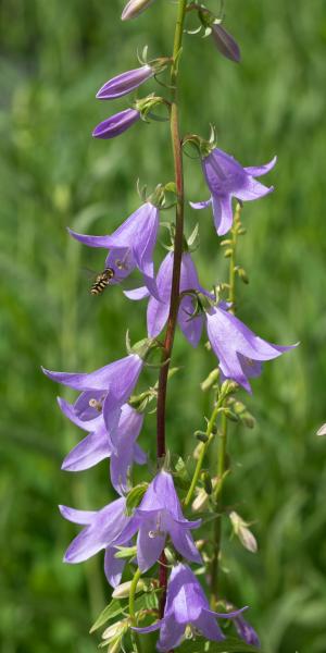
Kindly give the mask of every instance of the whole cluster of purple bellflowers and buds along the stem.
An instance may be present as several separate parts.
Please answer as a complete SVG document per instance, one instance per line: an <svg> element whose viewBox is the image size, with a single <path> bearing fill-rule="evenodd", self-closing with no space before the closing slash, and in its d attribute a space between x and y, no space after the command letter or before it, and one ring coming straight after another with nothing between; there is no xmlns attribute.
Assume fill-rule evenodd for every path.
<svg viewBox="0 0 326 653"><path fill-rule="evenodd" d="M138 16L151 3L152 0L129 0L123 12L123 20ZM239 61L239 48L233 37L220 25L221 21L212 16L208 10L203 10L202 5L199 7L201 25L212 35L218 50L228 59ZM149 63L145 61L140 67L113 77L100 88L97 98L113 100L134 91L141 84L162 73L166 66L174 66L176 57L179 57L179 51L172 59L161 58ZM175 75L175 72L173 74ZM140 118L150 115L152 107L160 101L161 99L155 96L137 100L133 108L125 109L98 125L93 136L108 139L122 134ZM269 194L273 186L264 186L256 181L256 177L269 172L275 165L276 158L266 165L243 168L231 156L217 148L216 143L203 139L199 141L202 170L211 196L205 201L191 202L191 206L195 209L211 206L217 234L224 235L230 230L236 234L238 226L235 225L233 198L243 202ZM242 386L251 392L250 379L261 374L262 364L296 346L279 346L263 340L234 315L233 297L223 298L216 293L216 288L213 291L205 288L200 283L191 256L195 250L193 239L189 238L187 242L183 235L181 242L177 241L174 225L170 224L168 227L173 236L173 245L155 272L154 251L161 209L166 208L165 199L162 200L164 188L170 190L172 188L175 194L174 204L178 204L179 197L175 184L170 183L165 187L159 185L156 192L149 198L143 198L141 206L111 234L85 235L68 230L70 235L82 244L106 250L103 264L104 270L110 271L112 285L124 284L138 269L143 285L134 289L124 289L124 294L133 301L147 300L147 337L134 347L128 346L127 356L89 373L43 369L50 379L79 393L73 404L63 398L59 398L58 402L64 416L87 433L65 456L62 469L77 472L109 458L111 483L118 495L99 510L89 512L60 506L65 519L83 526L83 530L68 546L64 560L70 564L79 563L104 550L106 579L113 588L117 588L128 560L127 554L120 555L121 551L131 552L128 570L130 571L133 565L137 564L139 575L152 569L156 563L161 566L166 565L164 551L168 551L172 570L167 584L161 587L164 592L166 590L165 604L164 596L161 601L161 614L154 611L150 615L142 615L140 611L139 619L150 618L151 624L138 627L135 614L130 613L128 625L139 633L160 630L158 651L161 652L177 648L185 633L189 636L189 632L193 637L201 633L209 640L223 640L225 634L217 619L229 619L242 640L259 645L258 636L242 616L244 608L239 611L230 607L224 613L211 609L199 580L187 564L202 565L206 559L205 556L202 557L192 535L192 531L201 528L202 520L193 521L186 516L193 490L198 489L197 481L200 478L202 457L199 458L198 473L195 472L184 505L176 491L174 481L176 470L171 465L168 456L163 466L160 461L156 473L143 485L138 500L131 504L131 507L128 505L128 497L133 494L133 466L146 465L148 460L148 452L138 444L138 438L146 423L147 402L135 401L136 386L141 379L143 367L148 365L151 352L160 350L162 347L158 337L166 323L170 324L167 330L171 329L172 341L175 326L178 324L192 347L200 344L205 330L210 348L216 357L214 380L220 375L222 384L218 386L218 401L208 431L201 433L201 445L204 447L209 445L214 434L213 427L220 412L224 411L226 417L237 417L233 412L230 389ZM177 245L180 246L179 250ZM231 264L234 266L234 261ZM233 267L231 271L235 270L236 268ZM173 306L176 307L175 318ZM171 326L173 319L175 322ZM165 357L163 366L168 362L170 358ZM146 396L156 397L158 386L147 392L148 394L145 392ZM143 393L138 395L138 397L142 396ZM158 403L159 401L160 397ZM242 404L238 402L235 410L242 411L242 415L241 406ZM199 486L201 492L204 491L206 496L215 491L218 493L218 483L223 482L223 478L212 480L208 472L201 478L204 486L204 490L200 490ZM217 501L216 496L215 501ZM178 562L180 558L185 562ZM133 596L130 605L133 605ZM225 603L225 605L227 609L229 604ZM123 628L125 632L124 629L125 626ZM116 648L110 651L120 651L121 640L117 638L112 641Z"/></svg>

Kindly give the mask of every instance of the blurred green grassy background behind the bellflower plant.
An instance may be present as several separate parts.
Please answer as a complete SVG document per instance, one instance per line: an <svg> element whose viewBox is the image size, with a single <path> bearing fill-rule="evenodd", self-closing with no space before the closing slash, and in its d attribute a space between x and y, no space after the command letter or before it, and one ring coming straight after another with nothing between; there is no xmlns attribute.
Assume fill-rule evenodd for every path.
<svg viewBox="0 0 326 653"><path fill-rule="evenodd" d="M138 124L112 141L90 137L129 101L98 102L98 88L137 65L146 44L151 58L171 52L173 2L158 0L127 24L122 8L122 0L0 2L3 653L96 651L88 629L110 597L101 556L61 562L76 529L57 504L96 508L112 494L105 463L78 476L60 471L80 434L64 422L40 365L96 369L124 355L127 328L133 341L145 332L145 306L118 288L89 296L82 269L101 270L103 252L82 249L65 232L113 231L139 205L137 177L150 188L171 178L167 123ZM326 442L315 435L326 421L325 3L229 0L225 9L242 64L222 59L211 39L185 38L183 131L208 136L214 123L220 146L247 165L278 155L266 178L275 193L243 210L239 262L250 285L238 288L238 312L272 342L301 345L265 366L248 399L258 426L230 436L229 501L254 521L260 550L254 556L226 541L224 583L251 606L265 653L325 653ZM153 89L149 83L145 94ZM206 197L196 160L186 159L186 187L187 199ZM195 259L210 286L227 263L209 211L189 209L187 233L197 220ZM181 455L209 411L199 383L212 361L177 335L174 362L184 367L171 382L167 433ZM141 444L152 457L154 438L149 416Z"/></svg>

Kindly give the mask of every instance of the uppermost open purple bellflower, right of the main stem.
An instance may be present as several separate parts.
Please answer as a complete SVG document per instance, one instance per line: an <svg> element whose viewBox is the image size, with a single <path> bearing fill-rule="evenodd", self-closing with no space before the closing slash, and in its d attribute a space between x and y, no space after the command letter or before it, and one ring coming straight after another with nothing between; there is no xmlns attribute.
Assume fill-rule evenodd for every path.
<svg viewBox="0 0 326 653"><path fill-rule="evenodd" d="M215 148L202 159L202 169L211 197L206 201L190 202L193 209L213 208L214 223L220 236L226 234L233 225L231 198L250 201L264 197L274 190L258 182L254 177L266 174L274 168L276 157L258 168L242 168L236 159Z"/></svg>

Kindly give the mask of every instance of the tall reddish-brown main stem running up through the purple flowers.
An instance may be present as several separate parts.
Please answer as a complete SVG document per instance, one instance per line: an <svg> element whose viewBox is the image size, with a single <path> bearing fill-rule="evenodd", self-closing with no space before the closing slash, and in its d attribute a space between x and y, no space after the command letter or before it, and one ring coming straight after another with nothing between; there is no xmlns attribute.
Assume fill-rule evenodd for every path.
<svg viewBox="0 0 326 653"><path fill-rule="evenodd" d="M178 103L177 103L177 90L178 90L178 61L180 56L180 48L183 44L184 34L184 22L186 13L187 0L179 0L178 12L175 26L174 46L173 46L173 63L171 67L171 86L172 86L172 99L171 99L171 138L174 160L174 173L175 173L175 185L176 185L176 222L175 222L175 239L174 239L174 262L173 262L173 275L172 275L172 287L171 287L171 299L170 299L170 315L167 320L167 328L165 333L163 355L162 355L162 367L159 378L159 391L158 391L158 434L156 434L156 446L158 446L158 463L160 458L165 455L165 405L166 405L166 385L168 375L170 358L173 349L175 328L178 317L179 308L179 285L180 285L180 269L183 258L183 245L184 245L184 171L183 171L183 150L181 140L179 135L179 116L178 116ZM165 364L165 365L164 365ZM160 586L163 588L163 595L160 605L161 615L164 612L165 605L165 588L167 583L167 569L166 559L164 553L161 556L160 565Z"/></svg>

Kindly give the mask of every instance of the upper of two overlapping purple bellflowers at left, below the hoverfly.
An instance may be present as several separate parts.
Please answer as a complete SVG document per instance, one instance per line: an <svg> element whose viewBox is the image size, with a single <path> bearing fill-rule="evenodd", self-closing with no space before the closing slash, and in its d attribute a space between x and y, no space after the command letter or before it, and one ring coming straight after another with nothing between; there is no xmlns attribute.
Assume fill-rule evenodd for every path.
<svg viewBox="0 0 326 653"><path fill-rule="evenodd" d="M95 409L87 411L87 404L90 408L91 402L99 402L106 429L111 432L118 423L122 405L129 399L142 366L143 360L138 354L129 354L90 373L53 372L43 368L42 370L52 381L83 391L77 399L79 406L77 403L74 405L80 419L85 420L89 416L92 418Z"/></svg>

